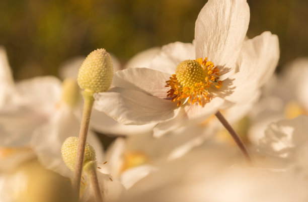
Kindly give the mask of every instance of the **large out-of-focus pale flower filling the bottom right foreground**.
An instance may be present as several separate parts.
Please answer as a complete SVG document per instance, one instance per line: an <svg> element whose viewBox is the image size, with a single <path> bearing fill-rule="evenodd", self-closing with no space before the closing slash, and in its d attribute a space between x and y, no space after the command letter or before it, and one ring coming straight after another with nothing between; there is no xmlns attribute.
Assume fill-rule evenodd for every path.
<svg viewBox="0 0 308 202"><path fill-rule="evenodd" d="M291 172L245 167L239 153L207 142L134 184L121 201L306 201Z"/></svg>

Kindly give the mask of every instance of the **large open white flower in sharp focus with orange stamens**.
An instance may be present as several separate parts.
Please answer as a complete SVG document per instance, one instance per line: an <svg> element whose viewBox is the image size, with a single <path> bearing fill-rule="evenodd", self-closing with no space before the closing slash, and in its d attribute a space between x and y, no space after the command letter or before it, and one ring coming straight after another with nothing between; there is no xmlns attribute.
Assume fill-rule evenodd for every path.
<svg viewBox="0 0 308 202"><path fill-rule="evenodd" d="M94 107L122 124L143 125L170 121L169 124L162 123L170 126L175 123L186 125L200 122L219 109L250 103L259 95L260 86L273 73L279 48L277 36L270 32L246 40L248 24L249 7L246 1L209 1L196 21L193 44L176 42L164 46L161 53L152 60L150 69L129 68L116 72L113 81L116 87L95 94ZM205 57L214 66L211 62L205 64ZM185 103L185 88L177 88L185 83L178 83L176 77L172 76L169 86L165 87L166 81L176 72L177 65L187 59L198 59L198 63L208 69L205 83L201 83L201 87L195 84L195 88L191 87L189 91L190 101L199 103L200 97L202 106ZM196 62L192 63L198 66ZM206 81L206 77L209 81ZM202 91L204 86L206 90ZM176 93L169 95L172 98L167 96L170 87L173 92L178 90L179 96L184 97L177 100L180 101L180 107L171 102L171 99L177 98ZM193 88L203 93L195 95L192 93Z"/></svg>

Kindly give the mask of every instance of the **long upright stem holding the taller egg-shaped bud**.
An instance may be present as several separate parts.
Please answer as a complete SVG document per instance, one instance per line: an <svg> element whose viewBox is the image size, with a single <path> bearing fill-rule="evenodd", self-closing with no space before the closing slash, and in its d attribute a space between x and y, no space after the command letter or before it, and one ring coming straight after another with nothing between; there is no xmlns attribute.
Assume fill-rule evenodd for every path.
<svg viewBox="0 0 308 202"><path fill-rule="evenodd" d="M74 169L74 178L73 178L73 187L76 191L76 195L79 196L80 191L80 183L81 183L81 176L83 170L83 163L84 163L84 155L85 155L85 148L87 143L87 135L89 130L89 123L90 117L92 112L92 107L94 103L93 92L85 89L83 91L84 96L84 111L83 111L83 118L81 122L81 128L79 133L79 141L78 141L78 148L77 148L77 155L76 155L76 163Z"/></svg>

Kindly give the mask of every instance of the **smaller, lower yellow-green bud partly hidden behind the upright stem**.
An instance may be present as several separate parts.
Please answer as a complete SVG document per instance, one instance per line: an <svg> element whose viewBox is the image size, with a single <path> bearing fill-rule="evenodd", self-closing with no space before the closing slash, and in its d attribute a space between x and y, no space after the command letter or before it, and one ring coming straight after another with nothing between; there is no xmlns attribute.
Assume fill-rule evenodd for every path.
<svg viewBox="0 0 308 202"><path fill-rule="evenodd" d="M77 147L78 147L77 137L66 138L61 147L62 159L66 164L66 166L71 171L74 171L75 169ZM95 161L95 160L96 160L95 150L89 143L87 143L83 164L85 165L85 163L87 163L88 161Z"/></svg>

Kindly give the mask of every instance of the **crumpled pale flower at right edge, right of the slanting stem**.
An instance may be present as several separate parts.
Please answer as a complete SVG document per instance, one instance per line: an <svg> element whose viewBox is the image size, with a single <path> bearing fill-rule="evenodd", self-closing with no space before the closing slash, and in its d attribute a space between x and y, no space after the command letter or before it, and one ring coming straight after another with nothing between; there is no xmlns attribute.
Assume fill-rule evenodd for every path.
<svg viewBox="0 0 308 202"><path fill-rule="evenodd" d="M278 166L281 168L294 168L296 173L307 176L307 124L307 116L270 124L259 142L259 152L269 158L275 157L280 160Z"/></svg>

